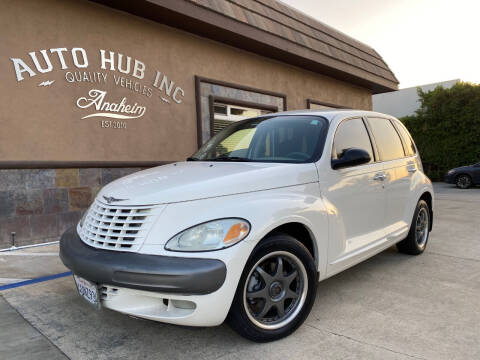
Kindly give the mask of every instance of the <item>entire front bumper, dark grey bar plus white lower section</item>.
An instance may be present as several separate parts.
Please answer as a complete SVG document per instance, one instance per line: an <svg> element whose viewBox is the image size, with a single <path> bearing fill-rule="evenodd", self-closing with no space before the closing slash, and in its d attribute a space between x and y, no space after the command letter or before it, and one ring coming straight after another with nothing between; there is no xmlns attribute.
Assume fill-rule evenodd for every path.
<svg viewBox="0 0 480 360"><path fill-rule="evenodd" d="M240 275L227 276L218 259L97 249L83 243L74 228L62 235L60 258L98 286L102 307L178 325L221 324Z"/></svg>

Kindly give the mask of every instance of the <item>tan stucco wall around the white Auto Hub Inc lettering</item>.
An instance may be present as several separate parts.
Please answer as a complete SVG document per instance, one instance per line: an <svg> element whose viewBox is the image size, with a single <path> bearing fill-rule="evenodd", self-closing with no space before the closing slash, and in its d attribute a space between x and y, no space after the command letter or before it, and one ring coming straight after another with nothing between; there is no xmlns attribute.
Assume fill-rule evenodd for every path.
<svg viewBox="0 0 480 360"><path fill-rule="evenodd" d="M197 147L195 75L284 93L289 110L305 108L307 98L352 108L371 108L371 93L367 89L87 1L10 0L2 5L0 161L185 158ZM55 48L67 49L60 51L65 66L58 50L51 51ZM75 66L72 48L84 49L88 67ZM102 69L100 49L106 51L107 57L113 51L115 63L118 54L123 54L124 67L126 57L131 57L130 73L119 72L117 64L114 71L109 63ZM48 70L41 50L46 50L52 71L40 73L29 55L35 52L40 66ZM82 50L76 50L75 54L77 64L83 65ZM30 76L24 64L15 60L18 69L25 70L20 73L24 79L18 80L12 58L21 59L35 76ZM145 65L142 79L132 75L135 59L141 62L140 68ZM89 73L89 80L106 76L106 81L69 82L78 71L82 75L84 71ZM160 91L153 86L157 71L161 72L160 80L166 75L167 84L174 82L170 96L165 88ZM93 72L103 75L94 76ZM140 73L137 71L137 76ZM123 87L122 82L128 81L137 82L138 89L145 86L146 95ZM176 87L180 90L174 98ZM89 96L92 89L105 91L104 101L120 103L125 98L126 104L144 106L145 113L128 120L98 116L82 119L102 112L95 111L94 105L88 108L77 105L82 97L92 98ZM80 100L80 104L87 102ZM127 128L102 128L102 120L124 121Z"/></svg>

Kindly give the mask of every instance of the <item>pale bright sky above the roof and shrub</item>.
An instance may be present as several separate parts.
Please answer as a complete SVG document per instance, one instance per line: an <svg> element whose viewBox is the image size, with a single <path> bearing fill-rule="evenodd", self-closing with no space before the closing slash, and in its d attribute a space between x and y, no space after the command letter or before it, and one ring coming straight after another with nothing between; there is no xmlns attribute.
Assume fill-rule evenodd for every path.
<svg viewBox="0 0 480 360"><path fill-rule="evenodd" d="M480 83L479 0L282 0L373 47L401 89Z"/></svg>

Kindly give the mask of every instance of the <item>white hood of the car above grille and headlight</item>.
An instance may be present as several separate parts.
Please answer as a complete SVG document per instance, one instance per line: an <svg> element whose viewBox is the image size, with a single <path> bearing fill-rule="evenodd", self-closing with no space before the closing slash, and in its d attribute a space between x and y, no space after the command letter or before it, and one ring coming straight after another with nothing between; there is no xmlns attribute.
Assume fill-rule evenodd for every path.
<svg viewBox="0 0 480 360"><path fill-rule="evenodd" d="M112 205L153 205L274 189L318 181L315 164L186 161L143 170L105 186ZM120 200L121 199L121 200Z"/></svg>

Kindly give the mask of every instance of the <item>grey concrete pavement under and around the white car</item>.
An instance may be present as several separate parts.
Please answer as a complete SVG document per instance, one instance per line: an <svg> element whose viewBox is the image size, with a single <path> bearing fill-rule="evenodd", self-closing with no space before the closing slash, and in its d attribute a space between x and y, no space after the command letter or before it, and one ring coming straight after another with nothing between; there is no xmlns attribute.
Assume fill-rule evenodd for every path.
<svg viewBox="0 0 480 360"><path fill-rule="evenodd" d="M435 189L425 253L391 248L321 282L306 323L286 339L255 344L226 325L187 328L95 311L69 276L0 291L0 358L479 359L480 188ZM66 271L57 251L0 253L0 286Z"/></svg>

